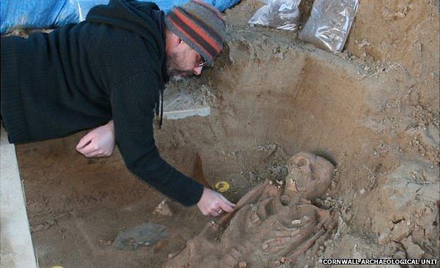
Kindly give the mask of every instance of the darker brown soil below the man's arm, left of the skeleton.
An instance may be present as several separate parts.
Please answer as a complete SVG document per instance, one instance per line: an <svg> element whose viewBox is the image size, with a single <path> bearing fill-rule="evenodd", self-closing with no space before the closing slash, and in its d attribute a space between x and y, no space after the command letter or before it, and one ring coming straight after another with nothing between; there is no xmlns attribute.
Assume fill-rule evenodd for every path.
<svg viewBox="0 0 440 268"><path fill-rule="evenodd" d="M175 202L169 202L172 217L153 214L164 196L132 176L118 152L109 159L80 156L78 138L18 147L40 267L159 267L209 221L196 207ZM145 222L167 226L168 238L116 249L119 233Z"/></svg>

